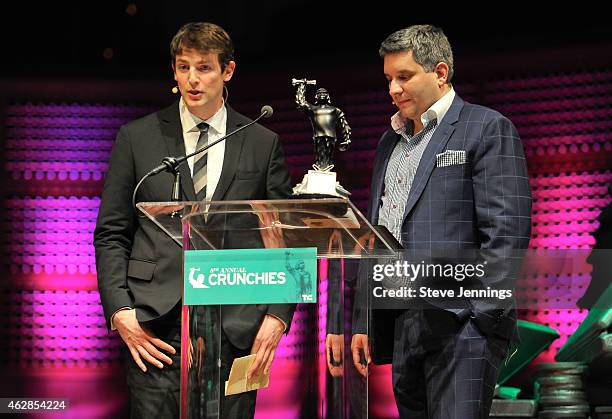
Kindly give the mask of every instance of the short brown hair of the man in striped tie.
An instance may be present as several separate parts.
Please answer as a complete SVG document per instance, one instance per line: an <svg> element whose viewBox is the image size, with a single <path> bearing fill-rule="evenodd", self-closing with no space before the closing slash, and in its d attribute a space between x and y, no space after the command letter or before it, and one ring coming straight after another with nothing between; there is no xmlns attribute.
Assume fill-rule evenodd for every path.
<svg viewBox="0 0 612 419"><path fill-rule="evenodd" d="M219 54L221 71L234 59L234 43L225 30L214 23L191 22L183 25L170 42L172 65L183 48L193 48L203 53Z"/></svg>

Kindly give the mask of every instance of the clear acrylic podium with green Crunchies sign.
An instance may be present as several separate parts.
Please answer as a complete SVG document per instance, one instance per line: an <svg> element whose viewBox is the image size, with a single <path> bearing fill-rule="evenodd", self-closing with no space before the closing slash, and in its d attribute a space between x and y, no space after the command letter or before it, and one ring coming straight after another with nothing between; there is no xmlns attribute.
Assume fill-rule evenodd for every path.
<svg viewBox="0 0 612 419"><path fill-rule="evenodd" d="M317 303L298 305L277 348L256 418L367 417L367 381L350 353L358 262L393 257L392 243L348 200L144 202L138 208L182 251L316 247ZM177 278L183 284L183 278ZM367 307L364 308L367 310ZM220 306L183 306L181 417L219 417ZM328 362L326 339L342 351Z"/></svg>

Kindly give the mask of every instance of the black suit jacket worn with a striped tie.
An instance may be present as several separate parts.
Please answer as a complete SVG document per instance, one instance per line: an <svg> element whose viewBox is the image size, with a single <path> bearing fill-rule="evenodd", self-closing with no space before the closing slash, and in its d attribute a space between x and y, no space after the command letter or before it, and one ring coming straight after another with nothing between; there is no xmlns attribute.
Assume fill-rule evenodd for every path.
<svg viewBox="0 0 612 419"><path fill-rule="evenodd" d="M227 133L251 120L227 107ZM185 155L178 102L121 127L113 147L94 233L100 299L107 325L119 308L136 309L141 322L170 311L182 295L180 247L132 208L136 183L165 156ZM180 168L182 195L195 201L189 166ZM169 201L173 176L147 179L137 202ZM213 200L284 199L290 177L278 136L255 124L225 142L221 178ZM265 314L291 323L295 305L225 306L222 326L243 349L253 342Z"/></svg>

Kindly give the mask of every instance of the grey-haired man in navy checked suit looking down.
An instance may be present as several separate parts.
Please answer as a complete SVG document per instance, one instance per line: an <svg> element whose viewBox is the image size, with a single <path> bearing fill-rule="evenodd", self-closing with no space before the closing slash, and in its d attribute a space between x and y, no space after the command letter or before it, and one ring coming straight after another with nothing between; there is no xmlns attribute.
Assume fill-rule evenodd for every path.
<svg viewBox="0 0 612 419"><path fill-rule="evenodd" d="M418 25L395 32L380 55L399 111L377 146L370 222L386 226L406 249L477 251L498 268L481 279L482 288L511 287L516 271L506 261L527 247L531 228L527 165L515 127L455 93L453 55L440 29ZM393 389L402 418L488 417L498 368L516 333L511 303L430 299L386 324L375 310L373 322L382 329L375 335L394 334L382 340L393 342ZM351 349L355 367L367 374L363 324L357 320Z"/></svg>

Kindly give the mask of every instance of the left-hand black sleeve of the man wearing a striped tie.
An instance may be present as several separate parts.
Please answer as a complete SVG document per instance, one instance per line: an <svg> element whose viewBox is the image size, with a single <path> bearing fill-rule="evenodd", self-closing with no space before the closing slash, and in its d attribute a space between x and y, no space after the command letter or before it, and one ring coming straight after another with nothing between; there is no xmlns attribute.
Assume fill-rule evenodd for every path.
<svg viewBox="0 0 612 419"><path fill-rule="evenodd" d="M131 204L134 187L133 152L122 127L111 153L94 231L98 288L109 329L113 313L133 303L126 278L137 222Z"/></svg>

